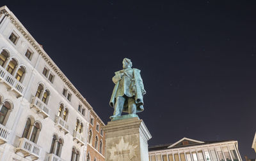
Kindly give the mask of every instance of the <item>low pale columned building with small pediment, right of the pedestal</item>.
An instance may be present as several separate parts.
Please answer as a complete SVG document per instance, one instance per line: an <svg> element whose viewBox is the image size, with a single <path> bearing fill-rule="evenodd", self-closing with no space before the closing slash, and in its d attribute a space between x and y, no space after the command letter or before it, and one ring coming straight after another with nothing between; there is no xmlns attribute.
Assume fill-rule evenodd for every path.
<svg viewBox="0 0 256 161"><path fill-rule="evenodd" d="M242 161L237 141L196 141L184 137L174 144L152 146L150 161Z"/></svg>

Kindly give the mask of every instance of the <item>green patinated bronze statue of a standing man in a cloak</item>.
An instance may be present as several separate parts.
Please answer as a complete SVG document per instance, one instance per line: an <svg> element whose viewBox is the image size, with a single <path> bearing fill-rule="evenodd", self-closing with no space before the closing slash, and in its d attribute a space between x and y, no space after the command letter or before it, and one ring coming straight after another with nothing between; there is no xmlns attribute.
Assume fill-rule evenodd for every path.
<svg viewBox="0 0 256 161"><path fill-rule="evenodd" d="M112 78L115 88L111 95L110 106L115 108L113 116L121 116L122 112L136 114L144 110L143 95L146 94L140 70L132 68L130 59L123 60L123 69L116 71Z"/></svg>

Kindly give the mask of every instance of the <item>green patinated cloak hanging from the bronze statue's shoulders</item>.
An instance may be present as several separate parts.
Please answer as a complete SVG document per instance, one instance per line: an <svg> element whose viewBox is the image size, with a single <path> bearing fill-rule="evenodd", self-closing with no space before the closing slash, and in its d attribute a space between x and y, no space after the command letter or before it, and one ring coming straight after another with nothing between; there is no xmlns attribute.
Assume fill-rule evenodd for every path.
<svg viewBox="0 0 256 161"><path fill-rule="evenodd" d="M135 104L137 106L137 113L141 112L144 110L143 108L143 95L146 93L144 90L144 85L143 85L143 81L142 78L140 76L140 70L133 68L133 79L134 79L134 87L135 87L135 94L134 94L134 100L135 100ZM121 70L123 71L123 70ZM121 71L117 71L115 72L116 75L120 74ZM115 83L115 82L114 82ZM120 84L120 80L118 82L115 83L115 87L113 89L113 93L111 95L111 99L109 102L109 105L113 108L115 108L115 102L116 102L116 94L118 93L118 87ZM128 113L128 102L125 101L124 103L124 108L123 108L123 112Z"/></svg>

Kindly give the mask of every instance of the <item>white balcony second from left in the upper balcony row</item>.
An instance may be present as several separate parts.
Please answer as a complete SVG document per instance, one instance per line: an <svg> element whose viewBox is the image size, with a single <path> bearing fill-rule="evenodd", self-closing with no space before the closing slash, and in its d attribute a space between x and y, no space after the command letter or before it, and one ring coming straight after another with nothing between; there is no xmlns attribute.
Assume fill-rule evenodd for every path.
<svg viewBox="0 0 256 161"><path fill-rule="evenodd" d="M36 113L42 115L44 118L49 117L50 109L38 97L33 97L32 98L31 108L35 108L36 109Z"/></svg>

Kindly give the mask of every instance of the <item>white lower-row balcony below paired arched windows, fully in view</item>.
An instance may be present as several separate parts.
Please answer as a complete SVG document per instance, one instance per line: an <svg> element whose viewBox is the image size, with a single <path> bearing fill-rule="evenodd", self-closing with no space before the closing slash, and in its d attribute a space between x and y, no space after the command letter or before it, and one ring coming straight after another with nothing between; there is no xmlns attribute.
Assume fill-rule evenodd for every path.
<svg viewBox="0 0 256 161"><path fill-rule="evenodd" d="M19 139L19 145L16 148L16 153L21 152L25 158L29 156L32 160L36 160L40 157L41 150L42 148L40 146L22 137Z"/></svg>

